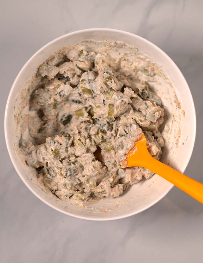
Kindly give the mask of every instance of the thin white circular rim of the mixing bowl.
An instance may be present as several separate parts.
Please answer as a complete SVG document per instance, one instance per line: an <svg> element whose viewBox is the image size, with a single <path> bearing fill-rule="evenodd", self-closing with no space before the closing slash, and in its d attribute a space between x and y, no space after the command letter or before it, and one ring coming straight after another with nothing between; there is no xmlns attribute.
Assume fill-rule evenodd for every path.
<svg viewBox="0 0 203 263"><path fill-rule="evenodd" d="M37 56L42 50L45 50L47 48L47 46L49 45L52 45L54 42L60 40L60 39L63 39L64 37L70 37L70 36L74 36L74 35L77 35L77 34L80 34L80 33L84 33L84 32L91 32L91 31L108 31L108 32L117 32L117 33L122 33L122 34L125 34L126 36L136 36L137 39L140 39L142 40L143 42L151 45L153 48L155 48L159 53L161 53L167 60L170 61L170 63L173 65L173 67L176 69L177 72L179 72L179 75L180 77L182 78L182 81L184 82L184 85L185 85L185 88L187 90L187 93L189 94L189 97L190 97L190 103L192 105L192 109L193 109L193 123L191 125L191 127L193 127L192 129L192 136L191 136L191 144L190 144L190 149L188 150L188 154L187 154L187 158L184 159L184 164L182 165L182 172L184 172L184 170L186 169L189 161L190 161L190 158L191 158L191 155L192 155L192 152L193 152L193 148L194 148L194 144L195 144L195 138L196 138L196 112L195 112L195 106L194 106L194 101L193 101L193 97L192 97L192 94L191 94L191 91L190 91L190 88L187 84L187 81L186 79L184 78L182 72L180 71L180 69L178 68L178 66L175 64L175 62L173 62L173 60L164 52L162 51L161 48L159 48L158 46L156 46L155 44L153 44L152 42L150 42L149 40L141 37L141 36L138 36L136 34L133 34L133 33L130 33L130 32L127 32L127 31L124 31L124 30L119 30L119 29L113 29L113 28L87 28L87 29L82 29L82 30L77 30L77 31L73 31L73 32L70 32L70 33L67 33L67 34L64 34L62 36L59 36L58 38L56 39L53 39L52 41L48 42L46 45L44 45L43 47L41 47L38 51L36 51L31 57L30 59L27 60L27 62L24 64L24 66L21 68L21 70L19 71L16 79L14 80L13 82L13 85L10 89L10 92L9 92L9 95L8 95L8 99L7 99L7 103L6 103L6 108L5 108L5 115L4 115L4 134L5 134L5 140L6 140L6 145L7 145L7 150L8 150L8 153L9 153L9 156L10 156L10 159L11 159L11 162L13 163L13 166L14 168L16 169L16 172L18 173L19 177L21 178L21 180L24 182L24 184L28 187L28 189L30 189L30 191L36 196L38 197L42 202L44 202L45 204L47 204L48 206L52 207L53 209L59 211L59 212L62 212L66 215L70 215L70 216L73 216L75 218L80 218L80 219L86 219L86 220L92 220L92 221L109 221L109 220L115 220L115 219L122 219L122 218L126 218L126 217L129 217L131 215L136 215L146 209L148 209L149 207L153 206L154 204L156 204L159 200L161 200L173 187L173 184L171 184L171 186L169 186L169 188L162 194L160 195L158 198L156 198L153 202L151 202L150 204L148 204L147 206L143 207L142 209L139 209L135 212L130 212L130 213L126 213L124 215L121 215L121 216L110 216L109 218L96 218L96 217L89 217L89 216L81 216L81 215L75 215L74 213L70 213L70 212L66 212L58 207L56 207L55 205L52 205L50 204L49 202L47 202L46 200L44 200L40 195L38 195L38 193L35 192L35 190L32 189L32 187L30 187L27 182L24 180L23 176L21 175L21 172L19 171L16 163L15 163L15 160L13 158L13 150L12 150L12 143L10 143L10 141L8 140L8 136L7 136L7 133L8 133L8 128L7 127L7 112L8 112L8 108L9 108L9 102L10 102L10 97L13 93L13 89L16 85L16 82L17 80L19 79L21 73L24 71L24 68L26 68L27 64L35 57Z"/></svg>

